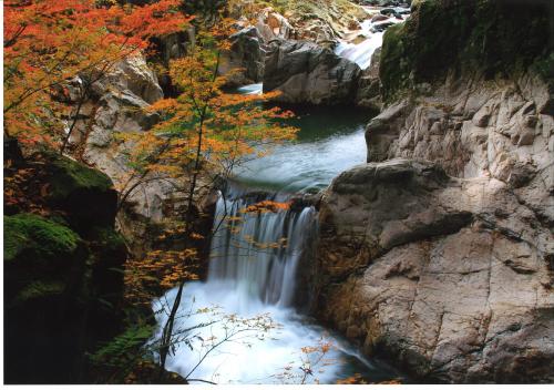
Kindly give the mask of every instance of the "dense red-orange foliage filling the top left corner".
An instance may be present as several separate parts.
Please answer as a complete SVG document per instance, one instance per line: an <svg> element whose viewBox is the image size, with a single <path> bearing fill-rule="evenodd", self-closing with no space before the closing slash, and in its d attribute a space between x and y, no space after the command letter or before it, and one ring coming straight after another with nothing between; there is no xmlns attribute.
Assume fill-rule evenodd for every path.
<svg viewBox="0 0 554 390"><path fill-rule="evenodd" d="M178 0L143 7L94 0L4 2L4 134L25 143L64 138L68 80L99 80L115 63L179 31Z"/></svg>

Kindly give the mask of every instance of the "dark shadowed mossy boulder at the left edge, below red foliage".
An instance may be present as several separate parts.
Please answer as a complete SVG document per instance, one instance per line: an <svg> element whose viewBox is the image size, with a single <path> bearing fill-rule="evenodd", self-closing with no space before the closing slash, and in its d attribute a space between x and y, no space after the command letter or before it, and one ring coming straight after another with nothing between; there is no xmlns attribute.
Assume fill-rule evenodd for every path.
<svg viewBox="0 0 554 390"><path fill-rule="evenodd" d="M90 382L88 353L122 325L114 308L127 250L113 226L115 191L104 174L58 154L11 163L7 183L24 189L18 207L34 214L12 207L3 219L6 381ZM13 179L25 171L33 174Z"/></svg>

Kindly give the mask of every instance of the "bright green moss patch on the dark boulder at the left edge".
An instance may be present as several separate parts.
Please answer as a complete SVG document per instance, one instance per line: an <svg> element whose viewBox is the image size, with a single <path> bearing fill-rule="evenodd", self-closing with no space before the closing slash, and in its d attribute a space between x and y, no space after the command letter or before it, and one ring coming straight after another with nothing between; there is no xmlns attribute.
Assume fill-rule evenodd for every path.
<svg viewBox="0 0 554 390"><path fill-rule="evenodd" d="M33 214L4 216L4 261L20 257L64 257L74 253L79 236L70 228Z"/></svg>

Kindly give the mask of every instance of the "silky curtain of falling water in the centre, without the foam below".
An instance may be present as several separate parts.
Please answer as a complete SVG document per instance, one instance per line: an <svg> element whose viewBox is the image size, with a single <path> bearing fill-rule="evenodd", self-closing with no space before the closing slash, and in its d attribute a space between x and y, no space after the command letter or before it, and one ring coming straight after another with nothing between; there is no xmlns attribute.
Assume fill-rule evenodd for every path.
<svg viewBox="0 0 554 390"><path fill-rule="evenodd" d="M273 199L274 197L269 197ZM286 201L283 195L276 202ZM235 189L217 202L208 284L226 283L239 292L239 311L252 301L290 306L298 261L315 236L312 206L277 213L247 213L253 204Z"/></svg>

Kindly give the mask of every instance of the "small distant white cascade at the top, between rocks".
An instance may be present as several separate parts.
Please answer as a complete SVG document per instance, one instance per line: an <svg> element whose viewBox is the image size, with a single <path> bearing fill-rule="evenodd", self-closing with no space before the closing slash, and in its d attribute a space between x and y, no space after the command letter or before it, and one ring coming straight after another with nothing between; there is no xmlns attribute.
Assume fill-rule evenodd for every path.
<svg viewBox="0 0 554 390"><path fill-rule="evenodd" d="M368 12L376 11L373 8L366 8ZM406 18L406 16L403 17ZM384 31L372 32L371 30L383 23L402 23L404 19L397 19L391 17L383 21L371 22L371 19L365 20L360 23L360 31L358 35L366 39L359 43L341 41L335 49L337 55L343 57L352 62L356 62L362 70L371 65L371 57L375 51L382 45L382 37Z"/></svg>

